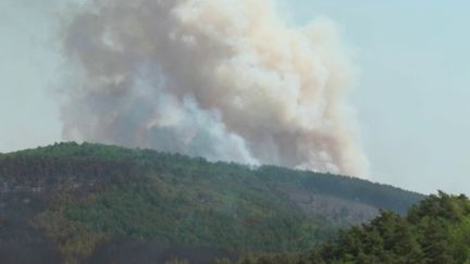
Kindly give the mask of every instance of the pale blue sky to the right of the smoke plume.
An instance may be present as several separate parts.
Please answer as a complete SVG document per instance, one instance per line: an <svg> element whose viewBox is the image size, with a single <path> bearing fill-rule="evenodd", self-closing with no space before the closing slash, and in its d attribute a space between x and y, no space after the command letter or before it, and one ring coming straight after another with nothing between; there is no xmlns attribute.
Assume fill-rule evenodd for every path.
<svg viewBox="0 0 470 264"><path fill-rule="evenodd" d="M297 0L335 21L361 70L352 95L374 180L469 193L468 1Z"/></svg>

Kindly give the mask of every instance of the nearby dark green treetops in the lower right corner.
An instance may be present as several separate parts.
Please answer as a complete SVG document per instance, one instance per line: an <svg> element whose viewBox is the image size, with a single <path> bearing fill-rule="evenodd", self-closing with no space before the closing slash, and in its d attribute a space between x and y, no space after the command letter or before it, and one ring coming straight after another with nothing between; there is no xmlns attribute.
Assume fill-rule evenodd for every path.
<svg viewBox="0 0 470 264"><path fill-rule="evenodd" d="M311 254L264 255L243 263L470 263L470 200L440 192L406 216L382 211L371 223L341 231Z"/></svg>

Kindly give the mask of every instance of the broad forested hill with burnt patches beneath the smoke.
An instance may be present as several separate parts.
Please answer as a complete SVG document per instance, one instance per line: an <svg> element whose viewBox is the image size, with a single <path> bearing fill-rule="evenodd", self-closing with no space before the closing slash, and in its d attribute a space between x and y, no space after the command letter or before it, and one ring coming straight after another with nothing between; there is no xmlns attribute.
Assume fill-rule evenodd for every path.
<svg viewBox="0 0 470 264"><path fill-rule="evenodd" d="M57 143L0 154L0 263L304 252L423 198L338 175Z"/></svg>

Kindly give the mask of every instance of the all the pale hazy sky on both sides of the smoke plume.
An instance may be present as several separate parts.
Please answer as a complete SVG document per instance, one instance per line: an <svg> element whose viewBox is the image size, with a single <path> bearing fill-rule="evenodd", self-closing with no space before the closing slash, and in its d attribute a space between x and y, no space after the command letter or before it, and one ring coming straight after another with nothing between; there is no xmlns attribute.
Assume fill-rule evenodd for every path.
<svg viewBox="0 0 470 264"><path fill-rule="evenodd" d="M55 12L64 2L0 1L0 152L61 140L51 89L63 76ZM470 193L470 3L279 2L293 26L330 17L355 52L361 74L350 101L371 179Z"/></svg>

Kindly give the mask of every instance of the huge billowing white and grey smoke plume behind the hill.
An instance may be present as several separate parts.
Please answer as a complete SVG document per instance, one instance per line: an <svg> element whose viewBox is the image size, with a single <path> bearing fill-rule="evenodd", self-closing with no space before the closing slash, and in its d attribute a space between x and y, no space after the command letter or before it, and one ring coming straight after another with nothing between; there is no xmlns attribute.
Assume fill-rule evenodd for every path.
<svg viewBox="0 0 470 264"><path fill-rule="evenodd" d="M64 30L64 137L356 176L355 71L327 21L272 0L97 0Z"/></svg>

